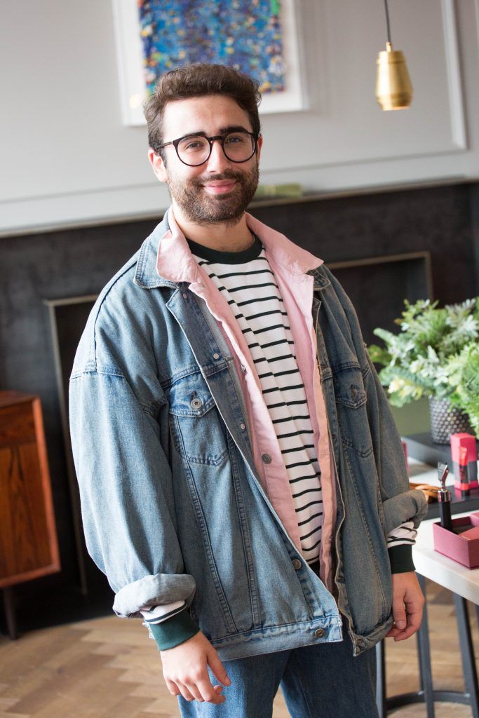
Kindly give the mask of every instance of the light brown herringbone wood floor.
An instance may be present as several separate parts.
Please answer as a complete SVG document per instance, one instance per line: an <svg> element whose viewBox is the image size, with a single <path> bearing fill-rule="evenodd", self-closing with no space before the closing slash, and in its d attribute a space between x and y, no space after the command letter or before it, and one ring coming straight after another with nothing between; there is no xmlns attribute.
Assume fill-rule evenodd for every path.
<svg viewBox="0 0 479 718"><path fill-rule="evenodd" d="M449 592L427 582L434 688L463 690L454 605ZM478 626L470 605L476 655ZM386 640L388 695L417 691L416 639ZM140 620L105 618L35 630L16 641L0 637L0 718L170 718L159 653ZM422 718L424 706L404 707L396 718ZM274 718L289 713L281 690ZM437 718L470 718L460 704L436 704ZM254 718L254 717L251 717Z"/></svg>

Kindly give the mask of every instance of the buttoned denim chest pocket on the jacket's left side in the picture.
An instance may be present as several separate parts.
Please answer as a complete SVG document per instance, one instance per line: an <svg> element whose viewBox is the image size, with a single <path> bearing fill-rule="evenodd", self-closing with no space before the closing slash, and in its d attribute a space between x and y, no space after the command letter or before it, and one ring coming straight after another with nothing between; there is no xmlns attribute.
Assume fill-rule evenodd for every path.
<svg viewBox="0 0 479 718"><path fill-rule="evenodd" d="M228 454L226 429L202 374L175 381L165 393L177 451L191 464L220 465Z"/></svg>

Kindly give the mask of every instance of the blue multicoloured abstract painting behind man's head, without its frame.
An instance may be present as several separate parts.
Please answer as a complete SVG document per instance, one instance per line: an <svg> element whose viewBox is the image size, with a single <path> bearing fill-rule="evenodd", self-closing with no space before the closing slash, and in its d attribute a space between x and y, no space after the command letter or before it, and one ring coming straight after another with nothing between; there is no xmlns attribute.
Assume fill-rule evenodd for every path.
<svg viewBox="0 0 479 718"><path fill-rule="evenodd" d="M259 81L261 93L284 90L279 0L137 0L147 92L187 62L231 65Z"/></svg>

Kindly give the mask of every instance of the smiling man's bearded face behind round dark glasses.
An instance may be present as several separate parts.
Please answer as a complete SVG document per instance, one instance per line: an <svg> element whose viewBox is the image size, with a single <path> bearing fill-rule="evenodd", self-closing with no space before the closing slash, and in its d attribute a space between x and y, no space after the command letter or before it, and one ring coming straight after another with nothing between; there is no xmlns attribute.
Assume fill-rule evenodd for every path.
<svg viewBox="0 0 479 718"><path fill-rule="evenodd" d="M248 113L234 100L223 95L176 100L164 109L163 141L203 132L208 137L225 134L226 128L253 131ZM210 158L198 167L183 164L175 147L164 148L167 159L149 151L154 173L167 182L173 205L180 207L187 220L195 224L236 224L251 202L259 180L259 154L246 162L231 162L225 157L220 141L213 142Z"/></svg>

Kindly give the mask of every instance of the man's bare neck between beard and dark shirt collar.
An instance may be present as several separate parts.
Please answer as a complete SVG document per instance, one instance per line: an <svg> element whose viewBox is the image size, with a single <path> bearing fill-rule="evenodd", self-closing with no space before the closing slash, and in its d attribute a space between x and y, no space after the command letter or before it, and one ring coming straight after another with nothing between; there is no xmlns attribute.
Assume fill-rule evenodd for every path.
<svg viewBox="0 0 479 718"><path fill-rule="evenodd" d="M254 242L253 234L246 224L246 215L238 220L238 223L210 225L198 225L191 222L183 215L180 208L173 206L175 220L188 239L202 244L205 247L216 249L220 252L240 252L251 247Z"/></svg>

